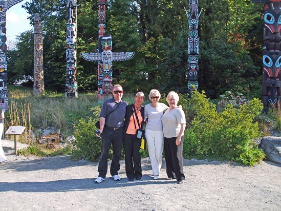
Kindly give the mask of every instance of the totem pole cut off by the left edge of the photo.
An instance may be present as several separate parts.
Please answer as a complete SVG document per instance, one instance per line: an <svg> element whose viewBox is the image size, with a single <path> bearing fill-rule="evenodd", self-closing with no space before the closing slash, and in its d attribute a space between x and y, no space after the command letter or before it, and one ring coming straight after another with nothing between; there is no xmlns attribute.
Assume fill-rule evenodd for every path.
<svg viewBox="0 0 281 211"><path fill-rule="evenodd" d="M0 0L0 103L8 110L6 11L23 0Z"/></svg>

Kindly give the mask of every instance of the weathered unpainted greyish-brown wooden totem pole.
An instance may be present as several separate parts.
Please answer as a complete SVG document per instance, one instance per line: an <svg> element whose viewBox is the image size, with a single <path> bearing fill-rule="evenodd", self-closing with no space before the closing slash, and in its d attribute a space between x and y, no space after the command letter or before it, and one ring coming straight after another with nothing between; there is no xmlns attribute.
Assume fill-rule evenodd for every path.
<svg viewBox="0 0 281 211"><path fill-rule="evenodd" d="M43 34L41 26L41 18L35 13L34 25L34 82L33 95L43 94L44 88L44 69L43 69Z"/></svg>

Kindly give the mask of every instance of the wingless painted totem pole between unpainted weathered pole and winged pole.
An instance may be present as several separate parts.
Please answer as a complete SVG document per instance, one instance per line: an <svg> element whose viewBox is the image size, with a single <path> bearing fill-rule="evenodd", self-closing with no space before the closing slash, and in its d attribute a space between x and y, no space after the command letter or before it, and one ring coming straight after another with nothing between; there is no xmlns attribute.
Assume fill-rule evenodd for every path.
<svg viewBox="0 0 281 211"><path fill-rule="evenodd" d="M77 48L76 48L76 24L77 24L76 0L68 0L67 3L67 82L66 98L78 97L77 92Z"/></svg>

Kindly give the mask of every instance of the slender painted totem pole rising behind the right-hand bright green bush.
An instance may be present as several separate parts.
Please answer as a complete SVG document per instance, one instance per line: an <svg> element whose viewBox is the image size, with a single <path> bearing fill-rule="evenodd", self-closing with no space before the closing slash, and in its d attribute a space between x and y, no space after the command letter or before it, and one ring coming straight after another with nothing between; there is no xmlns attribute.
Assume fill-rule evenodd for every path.
<svg viewBox="0 0 281 211"><path fill-rule="evenodd" d="M185 8L184 8L185 9ZM202 10L201 10L202 11ZM186 77L187 91L190 93L191 90L197 90L199 87L198 83L198 71L199 71L199 37L198 37L198 24L200 14L198 13L198 0L189 0L188 13L185 9L188 17L188 67Z"/></svg>

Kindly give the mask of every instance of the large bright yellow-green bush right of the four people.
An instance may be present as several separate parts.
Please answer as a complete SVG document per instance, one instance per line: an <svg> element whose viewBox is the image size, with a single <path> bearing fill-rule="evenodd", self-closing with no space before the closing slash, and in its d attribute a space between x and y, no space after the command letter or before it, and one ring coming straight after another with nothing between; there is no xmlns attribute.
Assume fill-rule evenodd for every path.
<svg viewBox="0 0 281 211"><path fill-rule="evenodd" d="M240 105L239 109L227 104L218 113L215 104L208 101L204 92L193 92L188 106L188 114L193 116L185 135L184 153L234 160L251 166L264 158L264 153L257 149L254 142L261 136L258 123L253 122L263 108L260 100L250 100L248 104Z"/></svg>

